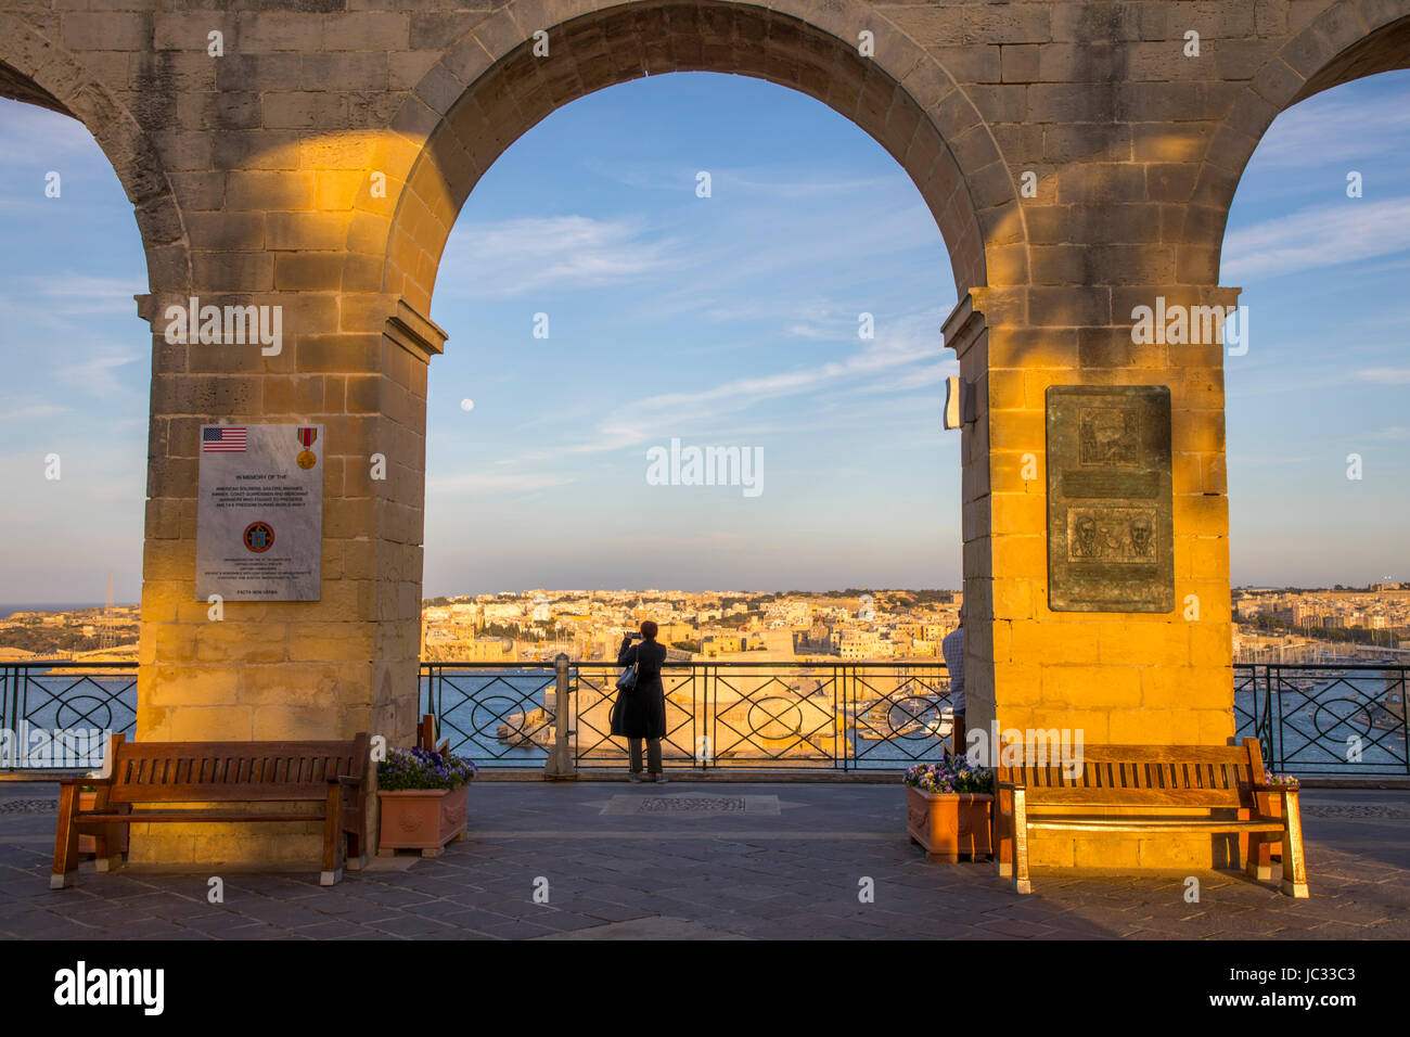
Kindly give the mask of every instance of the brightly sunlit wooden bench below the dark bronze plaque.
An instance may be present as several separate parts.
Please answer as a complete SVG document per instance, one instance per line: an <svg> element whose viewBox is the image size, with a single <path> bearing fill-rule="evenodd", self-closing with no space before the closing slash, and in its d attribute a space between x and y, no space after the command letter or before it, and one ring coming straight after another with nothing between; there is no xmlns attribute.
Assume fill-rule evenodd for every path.
<svg viewBox="0 0 1410 1037"><path fill-rule="evenodd" d="M1207 832L1237 837L1237 852L1256 879L1272 878L1270 849L1280 842L1283 893L1307 896L1297 789L1268 784L1256 738L1241 745L1087 745L1081 756L1081 773L1074 777L1060 760L998 768L995 859L1000 875L1011 869L1018 893L1032 892L1028 837L1034 831Z"/></svg>

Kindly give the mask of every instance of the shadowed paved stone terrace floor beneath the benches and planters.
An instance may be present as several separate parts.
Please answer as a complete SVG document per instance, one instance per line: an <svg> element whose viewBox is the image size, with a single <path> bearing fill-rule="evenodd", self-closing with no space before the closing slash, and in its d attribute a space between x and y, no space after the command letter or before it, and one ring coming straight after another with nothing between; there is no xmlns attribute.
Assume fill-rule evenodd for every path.
<svg viewBox="0 0 1410 1037"><path fill-rule="evenodd" d="M100 875L48 889L55 786L0 782L0 937L1407 938L1410 793L1304 790L1313 896L1206 873L1035 878L928 863L887 784L477 782L471 834L317 885L293 875ZM212 875L220 875L212 869ZM863 878L874 903L860 903ZM547 885L548 903L536 903Z"/></svg>

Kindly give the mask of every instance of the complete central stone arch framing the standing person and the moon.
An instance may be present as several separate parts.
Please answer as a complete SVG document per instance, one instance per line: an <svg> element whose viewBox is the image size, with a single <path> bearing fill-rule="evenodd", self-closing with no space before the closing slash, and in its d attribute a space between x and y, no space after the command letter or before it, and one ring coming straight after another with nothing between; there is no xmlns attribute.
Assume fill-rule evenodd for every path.
<svg viewBox="0 0 1410 1037"><path fill-rule="evenodd" d="M687 71L767 79L857 123L921 190L949 248L960 298L990 284L994 248L1007 248L1004 269L1026 279L1018 192L988 126L955 79L869 6L574 0L567 7L557 21L541 0L499 8L427 72L398 113L393 130L424 145L400 176L391 222L378 217L386 210L368 188L357 203L385 227L382 291L389 296L429 312L455 216L479 176L525 131L606 86ZM548 32L547 58L532 54L539 28ZM874 35L871 59L857 51L863 30ZM365 229L354 222L350 248L365 251L354 240Z"/></svg>

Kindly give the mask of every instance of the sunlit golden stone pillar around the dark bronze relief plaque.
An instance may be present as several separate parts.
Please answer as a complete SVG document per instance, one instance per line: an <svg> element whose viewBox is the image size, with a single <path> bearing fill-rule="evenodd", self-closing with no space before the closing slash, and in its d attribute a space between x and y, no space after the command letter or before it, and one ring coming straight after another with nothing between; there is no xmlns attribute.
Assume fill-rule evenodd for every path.
<svg viewBox="0 0 1410 1037"><path fill-rule="evenodd" d="M1237 291L976 289L945 327L976 385L963 437L970 728L1080 729L1087 744L1224 744L1234 734L1222 339L1136 344L1135 306L1234 305ZM1167 385L1175 608L1049 608L1046 391ZM1067 866L1208 865L1210 839L1041 839Z"/></svg>

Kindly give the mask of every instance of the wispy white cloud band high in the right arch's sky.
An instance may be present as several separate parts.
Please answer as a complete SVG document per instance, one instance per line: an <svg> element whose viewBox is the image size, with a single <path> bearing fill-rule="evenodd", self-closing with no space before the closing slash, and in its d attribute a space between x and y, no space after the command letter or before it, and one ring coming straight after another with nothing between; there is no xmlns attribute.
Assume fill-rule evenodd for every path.
<svg viewBox="0 0 1410 1037"><path fill-rule="evenodd" d="M1410 248L1410 198L1344 199L1230 231L1225 284L1335 267Z"/></svg>

